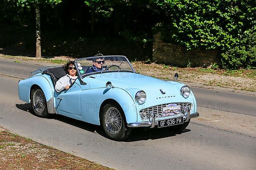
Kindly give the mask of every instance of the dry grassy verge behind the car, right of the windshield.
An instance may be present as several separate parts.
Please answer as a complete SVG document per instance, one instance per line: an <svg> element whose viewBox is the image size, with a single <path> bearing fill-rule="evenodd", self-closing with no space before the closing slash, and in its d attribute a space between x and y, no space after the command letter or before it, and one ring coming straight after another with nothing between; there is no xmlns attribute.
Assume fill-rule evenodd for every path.
<svg viewBox="0 0 256 170"><path fill-rule="evenodd" d="M132 62L136 71L159 79L174 79L179 74L178 81L211 85L223 88L256 92L256 70L214 70L212 68L177 68L154 62Z"/></svg>

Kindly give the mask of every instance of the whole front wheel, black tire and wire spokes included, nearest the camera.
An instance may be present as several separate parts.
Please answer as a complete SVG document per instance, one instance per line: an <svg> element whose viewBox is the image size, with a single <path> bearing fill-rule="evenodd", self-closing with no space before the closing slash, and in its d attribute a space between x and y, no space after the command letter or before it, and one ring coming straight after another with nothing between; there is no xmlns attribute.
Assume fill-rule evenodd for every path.
<svg viewBox="0 0 256 170"><path fill-rule="evenodd" d="M131 128L126 126L124 113L119 105L106 104L102 109L101 122L110 139L121 141L131 134Z"/></svg>

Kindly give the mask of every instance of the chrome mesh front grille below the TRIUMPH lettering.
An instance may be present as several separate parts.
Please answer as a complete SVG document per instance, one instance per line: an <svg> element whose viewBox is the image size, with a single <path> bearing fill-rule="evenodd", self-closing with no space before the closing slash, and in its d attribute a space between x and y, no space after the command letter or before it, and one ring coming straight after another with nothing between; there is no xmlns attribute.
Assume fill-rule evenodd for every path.
<svg viewBox="0 0 256 170"><path fill-rule="evenodd" d="M145 109L142 109L140 110L140 118L142 120L147 120L148 119L148 116L142 116L142 112L146 112L147 114L150 113L151 111L154 112L155 114L155 118L160 118L160 117L163 117L163 108L165 108L167 105L169 104L176 104L176 105L179 105L180 106L180 110L183 111L184 110L184 107L187 106L189 107L189 110L191 111L192 110L192 104L191 103L167 103L167 104L162 104L162 105L156 105L156 106L152 106L152 107L149 107L149 108L145 108ZM180 113L182 114L182 112Z"/></svg>

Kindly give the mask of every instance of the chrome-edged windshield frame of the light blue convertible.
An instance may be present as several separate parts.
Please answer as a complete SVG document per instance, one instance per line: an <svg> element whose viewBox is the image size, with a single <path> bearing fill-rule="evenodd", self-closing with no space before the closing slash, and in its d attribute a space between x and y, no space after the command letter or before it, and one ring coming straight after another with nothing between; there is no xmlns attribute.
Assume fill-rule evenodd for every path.
<svg viewBox="0 0 256 170"><path fill-rule="evenodd" d="M92 58L97 58L97 57L123 57L124 59L126 59L126 61L128 62L128 64L130 65L131 69L132 70L104 70L104 71L96 71L96 72L93 72L93 73L85 73L85 74L81 74L79 71L78 74L79 74L79 77L81 79L83 79L84 77L87 77L87 76L90 76L90 75L94 75L94 74L102 74L102 73L109 73L109 72L131 72L131 73L135 73L135 70L133 68L133 66L131 65L131 62L128 60L127 57L125 56L119 56L119 55L111 55L111 56L93 56L93 57L85 57L85 58L81 58L81 59L75 59L74 62L75 62L75 65L76 65L76 68L78 68L78 65L77 63L79 62L79 60L83 60L83 59L92 59Z"/></svg>

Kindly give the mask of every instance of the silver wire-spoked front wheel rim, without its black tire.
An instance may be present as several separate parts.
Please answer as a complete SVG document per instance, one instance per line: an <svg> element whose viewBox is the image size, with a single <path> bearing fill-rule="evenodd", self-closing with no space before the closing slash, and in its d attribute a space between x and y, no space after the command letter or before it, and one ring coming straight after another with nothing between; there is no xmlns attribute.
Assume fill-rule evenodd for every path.
<svg viewBox="0 0 256 170"><path fill-rule="evenodd" d="M112 134L116 134L121 130L122 118L121 114L116 108L108 108L105 116L105 125L107 130Z"/></svg>

